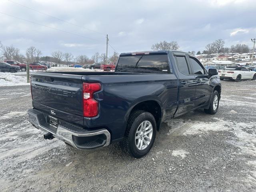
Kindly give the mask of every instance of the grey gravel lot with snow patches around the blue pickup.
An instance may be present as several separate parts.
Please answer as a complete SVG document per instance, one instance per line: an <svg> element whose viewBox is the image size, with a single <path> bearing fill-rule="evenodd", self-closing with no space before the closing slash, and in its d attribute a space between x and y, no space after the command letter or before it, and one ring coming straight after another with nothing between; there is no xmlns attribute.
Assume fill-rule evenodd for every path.
<svg viewBox="0 0 256 192"><path fill-rule="evenodd" d="M215 115L163 124L150 153L44 140L28 123L29 86L0 87L0 191L256 191L256 81L222 81Z"/></svg>

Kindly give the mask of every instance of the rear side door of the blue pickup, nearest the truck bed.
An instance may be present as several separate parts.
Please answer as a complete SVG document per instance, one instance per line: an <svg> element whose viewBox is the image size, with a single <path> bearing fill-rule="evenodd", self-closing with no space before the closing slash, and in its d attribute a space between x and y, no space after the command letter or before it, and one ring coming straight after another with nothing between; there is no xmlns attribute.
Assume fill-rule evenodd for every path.
<svg viewBox="0 0 256 192"><path fill-rule="evenodd" d="M196 79L191 75L191 68L188 56L182 53L173 53L177 72L180 80L180 92L178 96L179 108L178 113L182 113L195 108Z"/></svg>

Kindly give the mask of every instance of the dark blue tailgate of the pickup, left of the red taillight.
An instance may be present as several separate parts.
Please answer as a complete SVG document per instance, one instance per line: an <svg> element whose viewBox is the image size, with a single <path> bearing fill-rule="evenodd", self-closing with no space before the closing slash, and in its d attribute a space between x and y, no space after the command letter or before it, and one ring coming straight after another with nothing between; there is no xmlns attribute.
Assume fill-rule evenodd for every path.
<svg viewBox="0 0 256 192"><path fill-rule="evenodd" d="M82 76L31 73L33 107L65 121L83 125Z"/></svg>

